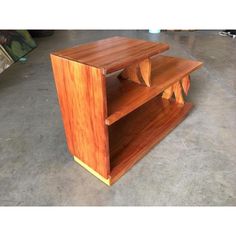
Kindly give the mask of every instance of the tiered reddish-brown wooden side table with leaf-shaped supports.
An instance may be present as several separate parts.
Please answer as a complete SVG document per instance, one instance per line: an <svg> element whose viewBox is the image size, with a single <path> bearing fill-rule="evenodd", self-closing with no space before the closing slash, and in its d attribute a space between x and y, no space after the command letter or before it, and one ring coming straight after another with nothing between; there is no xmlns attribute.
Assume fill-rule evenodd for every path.
<svg viewBox="0 0 236 236"><path fill-rule="evenodd" d="M190 111L201 62L158 55L164 43L112 37L51 54L66 140L75 161L111 185ZM174 99L175 98L175 99Z"/></svg>

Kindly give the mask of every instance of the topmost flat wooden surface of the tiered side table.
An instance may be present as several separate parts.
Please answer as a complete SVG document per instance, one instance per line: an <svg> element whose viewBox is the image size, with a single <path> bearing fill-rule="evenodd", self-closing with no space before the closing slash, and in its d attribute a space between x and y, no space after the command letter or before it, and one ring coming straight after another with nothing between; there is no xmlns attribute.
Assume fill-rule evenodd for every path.
<svg viewBox="0 0 236 236"><path fill-rule="evenodd" d="M99 68L103 74L109 74L168 49L166 43L116 36L52 54Z"/></svg>

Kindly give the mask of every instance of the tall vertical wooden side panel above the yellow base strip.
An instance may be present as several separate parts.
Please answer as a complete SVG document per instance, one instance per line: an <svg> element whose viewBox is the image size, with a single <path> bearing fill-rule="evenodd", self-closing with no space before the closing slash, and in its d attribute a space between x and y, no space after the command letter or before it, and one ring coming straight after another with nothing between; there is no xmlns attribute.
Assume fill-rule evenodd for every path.
<svg viewBox="0 0 236 236"><path fill-rule="evenodd" d="M69 151L108 178L105 78L94 67L52 54L51 61Z"/></svg>

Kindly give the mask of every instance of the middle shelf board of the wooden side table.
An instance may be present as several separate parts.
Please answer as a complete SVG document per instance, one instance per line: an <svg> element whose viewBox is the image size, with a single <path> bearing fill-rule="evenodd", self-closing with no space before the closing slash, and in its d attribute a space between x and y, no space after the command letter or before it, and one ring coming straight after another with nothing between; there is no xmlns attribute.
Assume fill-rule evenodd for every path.
<svg viewBox="0 0 236 236"><path fill-rule="evenodd" d="M169 56L155 56L151 63L151 87L119 80L114 75L107 78L107 125L112 125L202 65L199 61Z"/></svg>

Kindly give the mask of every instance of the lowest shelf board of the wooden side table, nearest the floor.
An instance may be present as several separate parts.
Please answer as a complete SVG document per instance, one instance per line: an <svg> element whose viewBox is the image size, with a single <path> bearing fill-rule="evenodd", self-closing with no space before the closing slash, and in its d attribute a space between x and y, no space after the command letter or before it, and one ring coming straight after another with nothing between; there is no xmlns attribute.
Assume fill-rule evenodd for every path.
<svg viewBox="0 0 236 236"><path fill-rule="evenodd" d="M111 182L114 183L188 114L192 104L153 98L109 127Z"/></svg>

